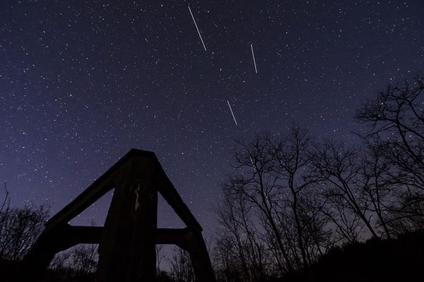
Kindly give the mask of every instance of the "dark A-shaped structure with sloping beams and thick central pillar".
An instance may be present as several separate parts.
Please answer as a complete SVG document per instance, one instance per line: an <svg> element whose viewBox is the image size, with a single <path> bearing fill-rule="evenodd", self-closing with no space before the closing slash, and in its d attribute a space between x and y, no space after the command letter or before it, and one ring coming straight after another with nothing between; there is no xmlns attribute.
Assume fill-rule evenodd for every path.
<svg viewBox="0 0 424 282"><path fill-rule="evenodd" d="M114 189L103 227L69 221ZM157 227L158 192L187 225ZM187 250L196 281L214 282L202 228L165 175L153 152L131 149L75 200L47 221L45 231L23 259L22 280L41 277L54 255L79 243L99 243L96 281L154 281L155 244Z"/></svg>

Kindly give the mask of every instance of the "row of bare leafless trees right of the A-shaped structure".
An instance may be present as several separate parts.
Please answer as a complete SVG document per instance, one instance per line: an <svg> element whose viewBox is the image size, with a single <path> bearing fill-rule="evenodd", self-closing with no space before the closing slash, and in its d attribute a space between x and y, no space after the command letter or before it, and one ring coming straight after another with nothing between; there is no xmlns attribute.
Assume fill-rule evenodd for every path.
<svg viewBox="0 0 424 282"><path fill-rule="evenodd" d="M361 106L360 145L295 125L237 142L217 210L218 281L311 274L335 246L423 230L423 89L417 77Z"/></svg>

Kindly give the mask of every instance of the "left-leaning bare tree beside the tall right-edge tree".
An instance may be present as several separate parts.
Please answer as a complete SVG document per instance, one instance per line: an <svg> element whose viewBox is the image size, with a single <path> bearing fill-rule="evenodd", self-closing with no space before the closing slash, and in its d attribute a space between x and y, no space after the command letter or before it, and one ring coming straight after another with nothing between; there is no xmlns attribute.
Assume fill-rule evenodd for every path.
<svg viewBox="0 0 424 282"><path fill-rule="evenodd" d="M362 188L358 182L360 166L358 149L346 148L342 143L327 142L317 146L313 165L315 176L324 184L327 199L326 214L338 227L338 232L348 240L358 238L362 221L371 235L378 238L372 224L370 202L361 197Z"/></svg>

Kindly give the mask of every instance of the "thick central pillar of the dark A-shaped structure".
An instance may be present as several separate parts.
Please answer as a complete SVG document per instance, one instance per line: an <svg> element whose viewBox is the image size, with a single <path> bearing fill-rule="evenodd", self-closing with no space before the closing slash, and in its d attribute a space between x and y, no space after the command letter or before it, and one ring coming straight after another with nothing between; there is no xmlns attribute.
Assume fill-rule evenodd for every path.
<svg viewBox="0 0 424 282"><path fill-rule="evenodd" d="M115 188L100 240L96 281L154 280L158 192L151 176L151 171L131 169Z"/></svg>

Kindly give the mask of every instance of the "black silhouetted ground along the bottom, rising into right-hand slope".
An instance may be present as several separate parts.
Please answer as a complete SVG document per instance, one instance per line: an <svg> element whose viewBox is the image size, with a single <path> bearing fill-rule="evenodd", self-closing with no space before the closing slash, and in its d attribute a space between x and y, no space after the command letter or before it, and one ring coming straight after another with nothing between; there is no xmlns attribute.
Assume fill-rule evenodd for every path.
<svg viewBox="0 0 424 282"><path fill-rule="evenodd" d="M1 281L15 281L13 273L16 271L20 271L16 262L0 261L0 272L3 274ZM48 270L42 281L88 282L94 280L93 274L78 274L72 269L57 269L56 271ZM156 281L175 280L167 274L161 273ZM406 233L392 240L372 239L365 243L337 247L330 250L309 269L300 269L289 273L282 279L278 278L272 281L424 281L424 231Z"/></svg>

